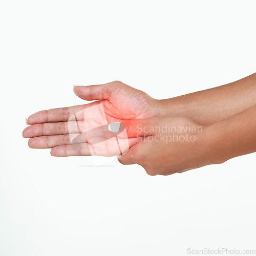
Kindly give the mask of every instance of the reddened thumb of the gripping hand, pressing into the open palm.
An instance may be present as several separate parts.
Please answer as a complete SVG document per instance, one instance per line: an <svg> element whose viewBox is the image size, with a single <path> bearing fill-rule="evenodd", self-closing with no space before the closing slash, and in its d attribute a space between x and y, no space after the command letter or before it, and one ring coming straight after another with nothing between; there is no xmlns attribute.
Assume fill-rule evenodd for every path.
<svg viewBox="0 0 256 256"><path fill-rule="evenodd" d="M155 134L155 118L133 119L123 121L128 138L151 136Z"/></svg>

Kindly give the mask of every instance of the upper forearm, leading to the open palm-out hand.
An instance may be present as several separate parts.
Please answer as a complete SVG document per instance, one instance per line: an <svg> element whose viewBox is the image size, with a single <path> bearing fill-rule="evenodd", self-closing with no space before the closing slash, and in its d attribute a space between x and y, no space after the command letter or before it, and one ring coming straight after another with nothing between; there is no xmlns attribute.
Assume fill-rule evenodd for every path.
<svg viewBox="0 0 256 256"><path fill-rule="evenodd" d="M157 101L158 116L184 116L209 125L256 105L256 73L224 86Z"/></svg>

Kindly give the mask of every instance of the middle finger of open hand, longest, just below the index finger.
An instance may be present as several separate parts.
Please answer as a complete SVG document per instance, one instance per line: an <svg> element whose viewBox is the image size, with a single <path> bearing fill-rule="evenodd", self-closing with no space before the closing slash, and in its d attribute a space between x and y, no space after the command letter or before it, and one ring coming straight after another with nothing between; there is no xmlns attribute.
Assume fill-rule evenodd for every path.
<svg viewBox="0 0 256 256"><path fill-rule="evenodd" d="M32 138L49 135L62 135L69 133L79 133L81 121L68 121L56 123L37 123L26 127L23 131L24 138Z"/></svg>

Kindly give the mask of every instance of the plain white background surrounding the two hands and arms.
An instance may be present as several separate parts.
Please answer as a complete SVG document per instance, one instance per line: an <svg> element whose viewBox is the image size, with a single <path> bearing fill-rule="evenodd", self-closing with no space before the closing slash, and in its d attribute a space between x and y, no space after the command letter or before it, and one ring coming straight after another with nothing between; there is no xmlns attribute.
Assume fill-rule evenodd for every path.
<svg viewBox="0 0 256 256"><path fill-rule="evenodd" d="M0 255L256 249L255 154L151 177L22 138L30 114L83 103L75 83L120 80L161 99L254 73L255 1L0 3Z"/></svg>

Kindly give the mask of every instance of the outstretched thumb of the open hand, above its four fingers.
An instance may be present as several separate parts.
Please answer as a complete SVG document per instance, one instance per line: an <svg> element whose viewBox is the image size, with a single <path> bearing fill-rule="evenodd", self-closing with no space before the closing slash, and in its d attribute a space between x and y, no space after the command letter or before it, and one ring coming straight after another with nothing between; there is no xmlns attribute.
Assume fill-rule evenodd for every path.
<svg viewBox="0 0 256 256"><path fill-rule="evenodd" d="M74 93L84 100L103 100L109 99L112 91L122 85L122 82L114 81L94 86L74 86Z"/></svg>

